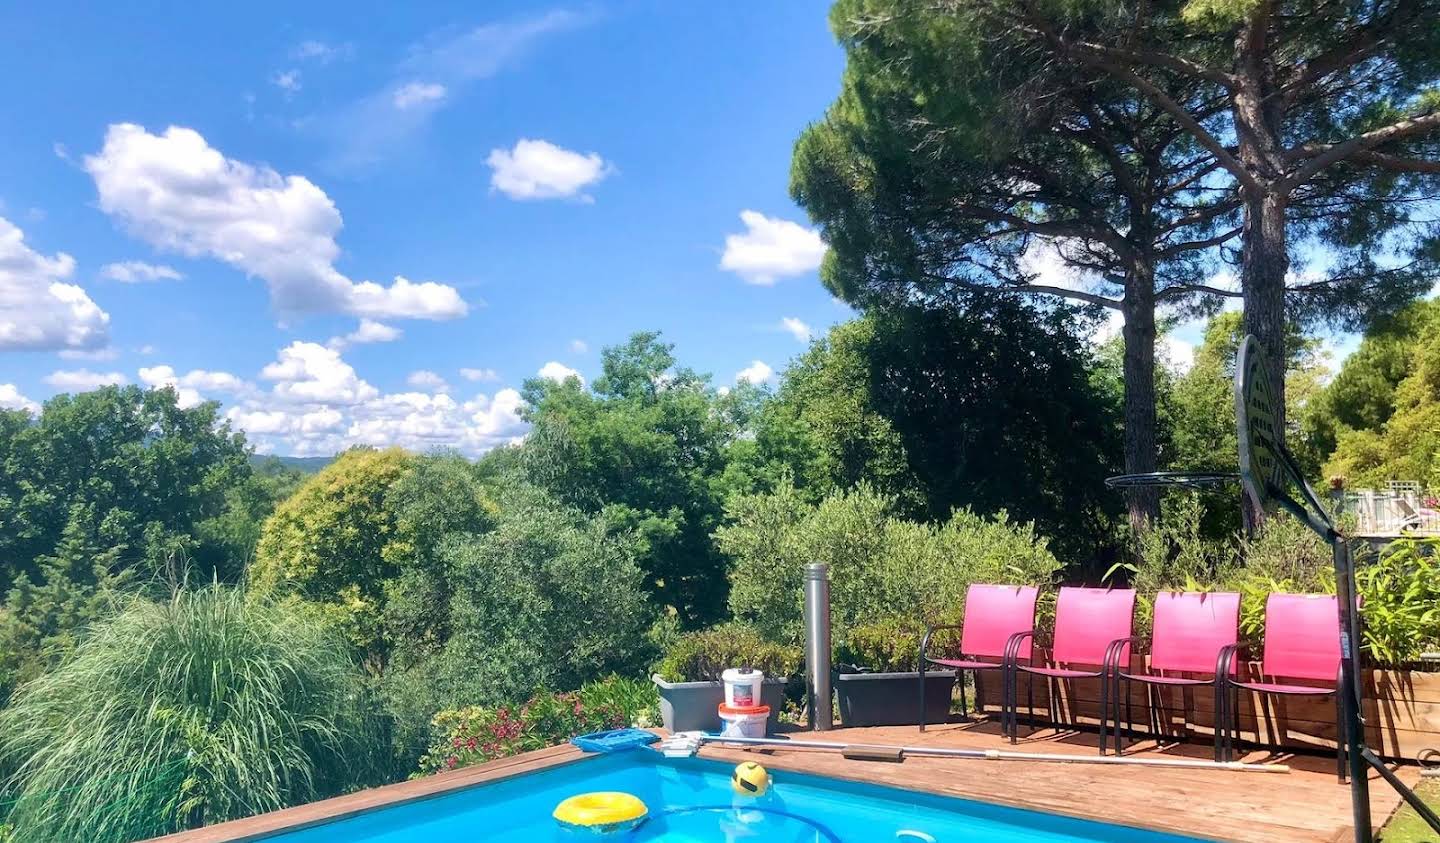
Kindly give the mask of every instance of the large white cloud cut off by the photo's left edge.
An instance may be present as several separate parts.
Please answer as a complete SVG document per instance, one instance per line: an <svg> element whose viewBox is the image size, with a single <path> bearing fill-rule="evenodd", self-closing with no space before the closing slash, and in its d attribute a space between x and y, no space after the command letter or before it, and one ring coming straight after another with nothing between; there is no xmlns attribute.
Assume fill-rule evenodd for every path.
<svg viewBox="0 0 1440 843"><path fill-rule="evenodd" d="M109 314L66 280L75 258L46 258L0 216L0 352L96 350L109 344Z"/></svg>

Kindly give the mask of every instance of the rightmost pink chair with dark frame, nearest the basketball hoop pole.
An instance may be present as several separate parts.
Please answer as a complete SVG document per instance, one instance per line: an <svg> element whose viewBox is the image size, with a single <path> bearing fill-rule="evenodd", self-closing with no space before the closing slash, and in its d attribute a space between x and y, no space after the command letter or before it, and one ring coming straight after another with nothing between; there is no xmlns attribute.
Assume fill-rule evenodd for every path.
<svg viewBox="0 0 1440 843"><path fill-rule="evenodd" d="M1221 752L1234 758L1240 742L1240 690L1267 696L1335 696L1335 765L1345 781L1345 736L1339 735L1345 722L1345 705L1339 693L1341 615L1332 594L1272 594L1264 604L1264 654L1260 660L1261 682L1240 682L1230 676L1237 648L1227 650L1230 663L1223 666L1223 684L1230 693L1221 697L1225 709L1217 716L1224 722L1225 738ZM1228 669L1227 669L1228 667ZM1325 684L1313 684L1323 682ZM1310 683L1310 684L1300 684ZM1223 719L1220 719L1223 716ZM1231 728L1234 735L1231 736Z"/></svg>

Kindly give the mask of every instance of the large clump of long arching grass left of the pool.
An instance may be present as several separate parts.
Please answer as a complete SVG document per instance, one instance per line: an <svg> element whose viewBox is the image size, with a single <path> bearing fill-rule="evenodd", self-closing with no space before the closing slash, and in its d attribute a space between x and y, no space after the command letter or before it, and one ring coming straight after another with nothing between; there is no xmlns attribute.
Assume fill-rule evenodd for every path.
<svg viewBox="0 0 1440 843"><path fill-rule="evenodd" d="M26 684L0 793L20 840L125 843L374 784L383 744L341 638L206 588L131 602Z"/></svg>

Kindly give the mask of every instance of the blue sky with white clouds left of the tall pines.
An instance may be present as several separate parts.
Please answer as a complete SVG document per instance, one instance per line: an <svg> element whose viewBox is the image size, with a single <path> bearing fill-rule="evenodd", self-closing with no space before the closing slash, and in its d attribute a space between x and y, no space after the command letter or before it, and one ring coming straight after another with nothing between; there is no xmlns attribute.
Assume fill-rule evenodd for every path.
<svg viewBox="0 0 1440 843"><path fill-rule="evenodd" d="M474 452L635 330L782 369L848 316L786 192L827 7L10 6L0 402L174 383L275 452Z"/></svg>

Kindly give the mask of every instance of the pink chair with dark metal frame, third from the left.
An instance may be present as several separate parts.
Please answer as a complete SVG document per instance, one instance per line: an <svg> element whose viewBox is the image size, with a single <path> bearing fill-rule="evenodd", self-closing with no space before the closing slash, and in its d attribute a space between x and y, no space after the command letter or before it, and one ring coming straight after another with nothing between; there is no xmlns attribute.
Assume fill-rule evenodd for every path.
<svg viewBox="0 0 1440 843"><path fill-rule="evenodd" d="M1240 627L1240 595L1231 591L1200 594L1194 591L1164 591L1155 595L1155 624L1151 633L1151 663L1143 673L1122 664L1115 673L1113 713L1115 751L1123 754L1120 739L1120 700L1125 700L1125 721L1130 716L1130 683L1148 687L1202 687L1215 693L1215 712L1224 710L1224 684L1218 680L1234 650ZM1208 674L1204 677L1195 674ZM1224 731L1215 719L1215 761L1220 761L1220 735ZM1104 725L1102 723L1102 729ZM1158 732L1159 729L1156 729Z"/></svg>

